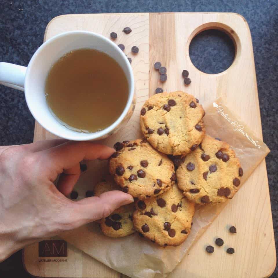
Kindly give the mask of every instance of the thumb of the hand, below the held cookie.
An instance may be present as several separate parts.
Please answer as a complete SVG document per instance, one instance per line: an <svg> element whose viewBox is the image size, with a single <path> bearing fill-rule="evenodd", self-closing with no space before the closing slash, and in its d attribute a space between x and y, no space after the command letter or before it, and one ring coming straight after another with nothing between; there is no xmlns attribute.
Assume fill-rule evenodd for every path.
<svg viewBox="0 0 278 278"><path fill-rule="evenodd" d="M105 218L118 207L132 203L133 197L122 191L114 190L102 193L99 197L89 197L78 202L70 202L69 217L73 228Z"/></svg>

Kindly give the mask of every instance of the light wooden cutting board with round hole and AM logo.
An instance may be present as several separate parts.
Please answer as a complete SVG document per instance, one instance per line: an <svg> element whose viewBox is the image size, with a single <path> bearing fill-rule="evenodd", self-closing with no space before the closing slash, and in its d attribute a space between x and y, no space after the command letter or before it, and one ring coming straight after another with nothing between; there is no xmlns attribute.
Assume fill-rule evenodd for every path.
<svg viewBox="0 0 278 278"><path fill-rule="evenodd" d="M129 26L129 35L121 30ZM205 74L194 67L189 58L191 39L202 30L220 29L228 33L236 46L231 67L220 74ZM137 104L134 114L122 131L103 140L112 146L116 141L141 136L139 111L156 87L164 92L183 90L209 103L222 96L254 133L262 138L259 100L250 30L246 20L235 13L131 13L62 15L50 21L44 40L70 31L88 30L109 37L117 32L115 43L125 45L125 54L132 58L136 82ZM139 53L131 54L137 45ZM202 55L202 53L200 53ZM160 61L167 67L168 80L161 84L153 64ZM185 87L181 72L187 69L192 83ZM38 123L34 141L54 138ZM231 235L227 227L235 225L238 233ZM236 250L234 255L214 252L208 255L204 246L222 237ZM230 247L229 246L229 247ZM24 250L25 268L38 277L126 277L68 244L67 261L39 262L38 244ZM57 259L54 258L54 259ZM239 193L192 246L182 262L169 275L177 277L268 277L276 265L275 242L270 208L266 163L262 161Z"/></svg>

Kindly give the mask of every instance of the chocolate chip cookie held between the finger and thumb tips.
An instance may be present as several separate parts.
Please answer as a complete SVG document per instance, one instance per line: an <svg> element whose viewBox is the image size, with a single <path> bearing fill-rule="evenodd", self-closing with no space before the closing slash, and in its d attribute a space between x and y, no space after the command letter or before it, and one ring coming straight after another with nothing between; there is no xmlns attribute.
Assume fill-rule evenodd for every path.
<svg viewBox="0 0 278 278"><path fill-rule="evenodd" d="M109 171L122 191L144 199L160 195L175 181L173 162L144 139L117 142Z"/></svg>

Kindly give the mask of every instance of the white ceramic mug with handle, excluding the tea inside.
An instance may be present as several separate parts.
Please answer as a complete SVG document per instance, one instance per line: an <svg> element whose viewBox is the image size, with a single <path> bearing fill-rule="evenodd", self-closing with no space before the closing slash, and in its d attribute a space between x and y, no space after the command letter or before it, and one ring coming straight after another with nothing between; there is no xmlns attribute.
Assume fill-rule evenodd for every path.
<svg viewBox="0 0 278 278"><path fill-rule="evenodd" d="M129 87L120 117L109 127L94 133L80 133L63 126L50 112L45 98L45 80L51 66L64 54L80 48L103 51L114 58L125 72ZM93 32L71 31L52 37L34 53L28 67L0 63L0 84L24 91L34 118L51 133L68 140L96 140L112 135L125 126L135 107L134 77L126 55L114 42Z"/></svg>

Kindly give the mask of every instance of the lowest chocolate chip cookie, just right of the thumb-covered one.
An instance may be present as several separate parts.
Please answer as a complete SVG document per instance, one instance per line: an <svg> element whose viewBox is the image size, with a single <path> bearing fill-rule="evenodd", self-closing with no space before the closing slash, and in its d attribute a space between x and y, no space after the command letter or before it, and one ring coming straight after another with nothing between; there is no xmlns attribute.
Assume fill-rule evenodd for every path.
<svg viewBox="0 0 278 278"><path fill-rule="evenodd" d="M138 200L133 213L135 229L160 246L178 246L191 231L194 203L175 183L160 196Z"/></svg>

